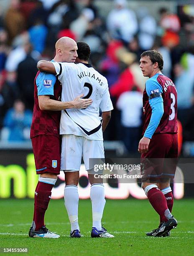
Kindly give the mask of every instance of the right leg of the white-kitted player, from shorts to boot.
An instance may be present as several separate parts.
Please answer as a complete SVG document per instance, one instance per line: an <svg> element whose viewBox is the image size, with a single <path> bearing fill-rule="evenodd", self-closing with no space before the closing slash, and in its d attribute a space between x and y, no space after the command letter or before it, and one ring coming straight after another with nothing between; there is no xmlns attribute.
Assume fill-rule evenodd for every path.
<svg viewBox="0 0 194 256"><path fill-rule="evenodd" d="M89 159L104 159L104 143L103 141L94 141L84 138L83 143L83 159L86 170L88 172L89 182L91 184L90 200L92 202L92 237L112 238L105 228L102 227L101 220L105 208L105 188L101 177L96 177L96 174L103 174L102 172L94 172Z"/></svg>

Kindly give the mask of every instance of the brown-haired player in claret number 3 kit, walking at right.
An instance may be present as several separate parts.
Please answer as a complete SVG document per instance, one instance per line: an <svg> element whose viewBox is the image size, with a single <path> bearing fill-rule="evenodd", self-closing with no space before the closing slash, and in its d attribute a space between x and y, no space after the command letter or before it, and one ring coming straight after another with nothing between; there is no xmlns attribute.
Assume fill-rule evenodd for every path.
<svg viewBox="0 0 194 256"><path fill-rule="evenodd" d="M149 77L143 92L143 138L138 146L142 187L160 215L159 227L147 236L170 236L170 230L177 225L171 214L173 195L170 187L178 157L176 87L161 72L163 58L159 52L143 52L140 69L144 77Z"/></svg>

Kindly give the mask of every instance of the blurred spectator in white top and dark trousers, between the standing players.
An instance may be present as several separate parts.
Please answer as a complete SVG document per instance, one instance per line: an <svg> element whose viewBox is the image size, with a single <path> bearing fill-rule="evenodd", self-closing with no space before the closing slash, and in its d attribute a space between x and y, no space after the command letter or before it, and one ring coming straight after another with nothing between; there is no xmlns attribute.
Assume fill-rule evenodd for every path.
<svg viewBox="0 0 194 256"><path fill-rule="evenodd" d="M142 117L142 93L133 87L123 92L117 100L117 109L121 111L122 140L130 153L137 152Z"/></svg>

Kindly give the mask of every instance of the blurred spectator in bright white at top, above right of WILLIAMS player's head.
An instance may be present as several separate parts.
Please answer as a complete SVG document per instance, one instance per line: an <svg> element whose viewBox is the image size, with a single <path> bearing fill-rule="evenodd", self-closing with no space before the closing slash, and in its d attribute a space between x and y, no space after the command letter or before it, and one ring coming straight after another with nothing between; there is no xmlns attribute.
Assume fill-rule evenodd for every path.
<svg viewBox="0 0 194 256"><path fill-rule="evenodd" d="M114 5L107 16L107 30L112 38L127 44L138 32L138 21L135 12L126 8L126 0L114 0Z"/></svg>

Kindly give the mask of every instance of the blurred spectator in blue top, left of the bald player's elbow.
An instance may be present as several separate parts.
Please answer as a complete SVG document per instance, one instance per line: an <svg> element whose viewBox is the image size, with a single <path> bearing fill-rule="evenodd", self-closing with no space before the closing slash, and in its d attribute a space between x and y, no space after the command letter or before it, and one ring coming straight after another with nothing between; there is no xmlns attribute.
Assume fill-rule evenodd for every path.
<svg viewBox="0 0 194 256"><path fill-rule="evenodd" d="M13 108L8 110L4 119L4 126L9 129L8 141L20 142L29 139L31 121L31 111L25 110L21 100L15 100ZM25 135L27 133L28 136Z"/></svg>

